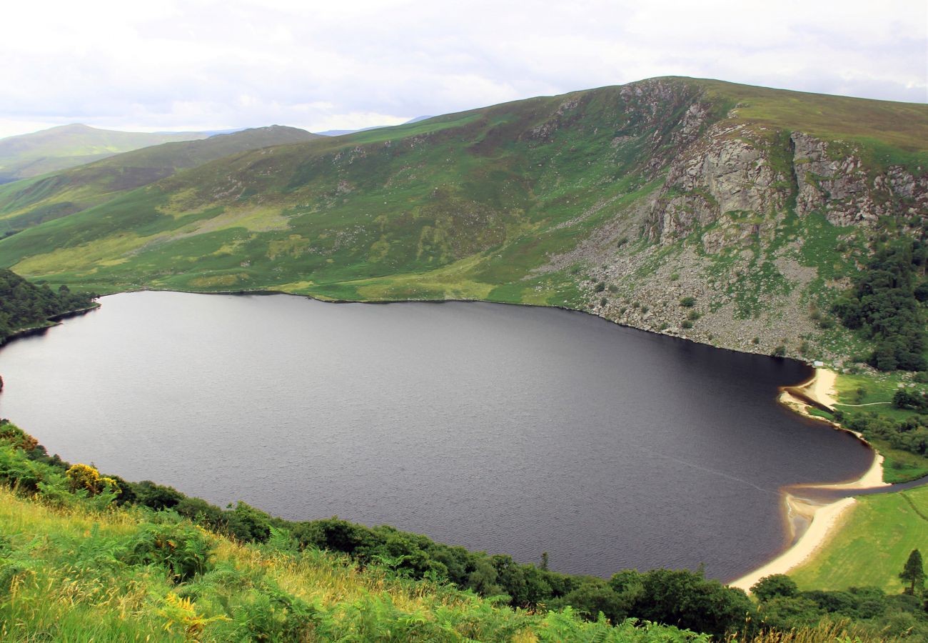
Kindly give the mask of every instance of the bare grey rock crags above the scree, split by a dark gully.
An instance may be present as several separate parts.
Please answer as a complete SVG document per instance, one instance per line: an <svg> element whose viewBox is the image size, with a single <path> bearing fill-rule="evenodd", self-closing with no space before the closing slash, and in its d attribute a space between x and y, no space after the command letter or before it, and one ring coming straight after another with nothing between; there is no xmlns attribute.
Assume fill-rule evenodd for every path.
<svg viewBox="0 0 928 643"><path fill-rule="evenodd" d="M786 174L774 169L767 141L745 136L747 129L715 125L670 164L648 220L651 241L674 243L727 213L775 219L793 197L798 217L820 212L841 227L871 225L884 215L928 214L924 172L915 176L899 165L868 168L853 151L832 153L828 141L793 132ZM756 234L761 225L742 231ZM721 245L715 236L704 243L709 253Z"/></svg>

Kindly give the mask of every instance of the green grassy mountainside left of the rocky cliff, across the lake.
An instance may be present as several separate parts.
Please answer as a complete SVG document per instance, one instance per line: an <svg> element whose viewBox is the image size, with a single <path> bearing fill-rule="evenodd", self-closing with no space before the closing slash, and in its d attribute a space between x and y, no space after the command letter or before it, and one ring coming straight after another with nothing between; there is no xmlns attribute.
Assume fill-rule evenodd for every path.
<svg viewBox="0 0 928 643"><path fill-rule="evenodd" d="M605 97L590 98L599 98L600 113L590 114L595 120L610 105ZM577 192L580 185L597 181L606 187L621 176L614 164L587 172L586 157L600 159L612 132L602 132L592 143L581 141L593 151L573 151L577 158L564 164L568 177L544 165L552 151L569 150L573 137L543 150L536 141L517 139L544 125L551 105L556 109L559 103L525 101L515 112L504 106L347 140L312 141L275 150L269 158L251 154L212 164L106 203L83 213L86 217L55 222L59 225L34 236L17 235L7 240L4 260L40 250L33 243L47 247L50 234L52 243L60 239L71 247L54 257L27 260L20 271L50 276L64 268L68 273L60 274L61 281L96 282L110 290L144 280L159 287L277 287L355 298L444 297L445 287L449 295L487 296L497 285L522 277L545 252L566 247L580 226L549 239L529 239L526 233L575 216L578 206L594 202L592 194ZM400 136L405 140L394 138L391 145L382 140ZM570 185L557 189L564 178ZM544 199L535 196L539 187ZM223 196L228 190L231 198ZM130 210L134 214L127 220L124 213ZM75 238L76 230L83 231ZM64 237L87 243L78 246ZM509 246L508 261L483 256L491 250L499 254L504 246ZM107 269L77 259L85 253L121 264ZM250 265L241 265L243 256ZM462 259L470 265L455 270ZM438 287L416 283L424 273L449 267L453 276L438 273L426 280ZM151 279L152 273L158 276Z"/></svg>

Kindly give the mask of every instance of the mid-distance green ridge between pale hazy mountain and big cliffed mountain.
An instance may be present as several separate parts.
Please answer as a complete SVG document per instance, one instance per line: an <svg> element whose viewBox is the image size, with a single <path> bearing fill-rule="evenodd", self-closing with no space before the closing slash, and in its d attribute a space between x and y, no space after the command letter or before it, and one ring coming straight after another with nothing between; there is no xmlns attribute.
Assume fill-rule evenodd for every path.
<svg viewBox="0 0 928 643"><path fill-rule="evenodd" d="M271 125L201 140L163 143L110 156L43 177L0 186L0 235L66 217L115 195L242 151L316 138L295 127Z"/></svg>

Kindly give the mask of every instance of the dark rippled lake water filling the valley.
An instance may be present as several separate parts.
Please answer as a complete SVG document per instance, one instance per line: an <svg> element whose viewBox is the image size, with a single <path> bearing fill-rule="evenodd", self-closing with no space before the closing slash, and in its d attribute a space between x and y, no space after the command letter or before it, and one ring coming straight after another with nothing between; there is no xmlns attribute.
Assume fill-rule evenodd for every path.
<svg viewBox="0 0 928 643"><path fill-rule="evenodd" d="M477 303L113 295L0 350L0 415L71 462L285 518L392 524L606 576L728 580L781 486L870 452L775 401L806 366Z"/></svg>

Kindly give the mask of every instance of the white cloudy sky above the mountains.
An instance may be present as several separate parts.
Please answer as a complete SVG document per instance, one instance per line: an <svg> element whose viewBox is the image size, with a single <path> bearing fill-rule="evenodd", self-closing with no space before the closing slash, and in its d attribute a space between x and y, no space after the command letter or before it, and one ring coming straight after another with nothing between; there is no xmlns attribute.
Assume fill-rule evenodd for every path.
<svg viewBox="0 0 928 643"><path fill-rule="evenodd" d="M0 137L393 125L686 75L928 102L924 0L31 0L0 21Z"/></svg>

